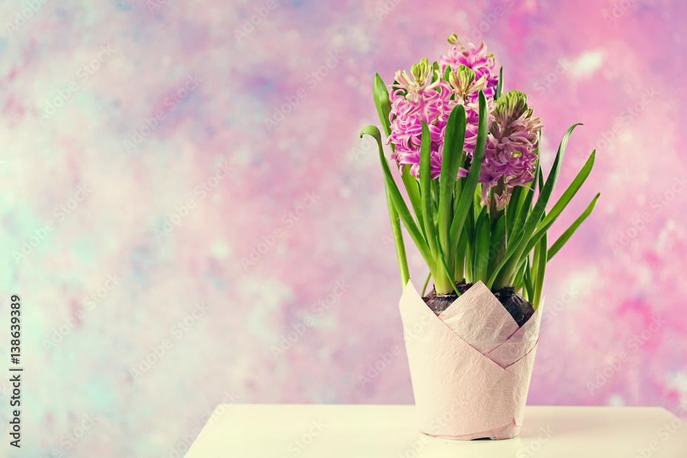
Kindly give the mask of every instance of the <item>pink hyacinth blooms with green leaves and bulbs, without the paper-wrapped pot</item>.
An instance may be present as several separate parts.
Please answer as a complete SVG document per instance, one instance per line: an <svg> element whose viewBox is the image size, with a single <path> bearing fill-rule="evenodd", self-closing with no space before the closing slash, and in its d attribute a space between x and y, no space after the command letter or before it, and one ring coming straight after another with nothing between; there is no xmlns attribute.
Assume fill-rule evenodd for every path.
<svg viewBox="0 0 687 458"><path fill-rule="evenodd" d="M391 92L376 74L373 95L386 141L379 146L396 254L405 288L409 272L401 224L429 267L437 296L460 295L460 284L482 281L495 293L515 287L536 309L546 263L592 213L599 195L550 247L547 231L589 176L596 151L548 213L561 171L563 140L550 172L539 161L543 127L520 91L502 93L503 69L484 43L458 36L438 62L423 59L396 72ZM408 207L383 153L390 144ZM536 198L535 198L536 196ZM412 209L412 212L411 212Z"/></svg>

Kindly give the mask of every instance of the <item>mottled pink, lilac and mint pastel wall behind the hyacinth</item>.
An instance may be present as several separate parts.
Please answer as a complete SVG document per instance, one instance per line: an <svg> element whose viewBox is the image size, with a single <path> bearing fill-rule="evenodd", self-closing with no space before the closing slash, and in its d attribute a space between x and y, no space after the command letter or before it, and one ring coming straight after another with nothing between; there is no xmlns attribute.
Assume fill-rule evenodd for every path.
<svg viewBox="0 0 687 458"><path fill-rule="evenodd" d="M412 403L405 350L360 378L401 342L401 284L358 133L374 72L452 32L530 93L545 164L585 124L562 183L598 150L553 230L601 193L550 263L528 402L679 413L686 19L678 0L3 1L0 352L19 294L25 379L2 455L171 457L218 402Z"/></svg>

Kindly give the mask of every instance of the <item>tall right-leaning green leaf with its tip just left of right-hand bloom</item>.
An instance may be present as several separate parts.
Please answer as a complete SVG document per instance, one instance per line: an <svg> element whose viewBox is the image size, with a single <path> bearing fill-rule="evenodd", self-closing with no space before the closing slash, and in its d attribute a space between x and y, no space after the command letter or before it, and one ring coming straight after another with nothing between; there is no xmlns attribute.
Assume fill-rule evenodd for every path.
<svg viewBox="0 0 687 458"><path fill-rule="evenodd" d="M484 92L480 91L480 120L477 124L477 142L475 144L475 152L473 160L470 165L470 171L466 177L465 185L460 193L460 200L458 207L453 214L453 222L451 222L451 229L449 237L451 240L451 253L455 253L458 248L458 241L460 240L460 233L463 230L465 219L468 211L471 210L471 204L477 189L477 181L480 178L480 171L482 170L482 160L484 159L484 148L486 147L486 136L489 129L489 113L486 104L486 97ZM445 146L444 146L445 148Z"/></svg>

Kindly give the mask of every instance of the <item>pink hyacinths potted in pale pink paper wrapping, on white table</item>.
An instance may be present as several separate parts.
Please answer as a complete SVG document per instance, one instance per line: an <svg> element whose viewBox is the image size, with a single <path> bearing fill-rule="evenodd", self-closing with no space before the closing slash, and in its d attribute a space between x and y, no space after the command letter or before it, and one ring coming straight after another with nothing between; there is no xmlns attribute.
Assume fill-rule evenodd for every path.
<svg viewBox="0 0 687 458"><path fill-rule="evenodd" d="M396 72L391 92L374 76L374 103L405 196L383 152L385 192L401 271L400 301L420 430L451 439L519 433L537 349L546 264L599 195L549 246L547 231L583 185L595 152L547 211L563 140L548 173L542 124L520 91L503 92L484 43L452 47ZM408 205L409 203L409 205ZM429 268L410 281L401 222ZM429 279L433 289L425 295Z"/></svg>

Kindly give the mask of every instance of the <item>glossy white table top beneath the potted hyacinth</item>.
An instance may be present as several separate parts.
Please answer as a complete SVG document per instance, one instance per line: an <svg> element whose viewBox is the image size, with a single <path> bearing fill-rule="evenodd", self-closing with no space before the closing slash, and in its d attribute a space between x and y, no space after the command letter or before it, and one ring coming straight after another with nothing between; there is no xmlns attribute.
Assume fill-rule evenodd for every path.
<svg viewBox="0 0 687 458"><path fill-rule="evenodd" d="M420 433L412 405L233 404L213 417L186 458L687 458L687 423L660 407L528 406L519 437L470 442Z"/></svg>

